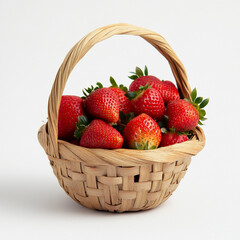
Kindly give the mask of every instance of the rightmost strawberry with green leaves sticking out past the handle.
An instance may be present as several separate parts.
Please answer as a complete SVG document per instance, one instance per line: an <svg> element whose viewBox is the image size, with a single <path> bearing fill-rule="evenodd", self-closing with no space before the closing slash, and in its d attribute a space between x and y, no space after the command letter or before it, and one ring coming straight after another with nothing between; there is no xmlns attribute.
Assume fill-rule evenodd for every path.
<svg viewBox="0 0 240 240"><path fill-rule="evenodd" d="M174 128L177 132L193 130L198 124L202 125L206 115L203 108L208 104L209 99L203 100L197 97L196 88L191 93L191 99L178 99L167 105L166 115L168 116L168 128Z"/></svg>

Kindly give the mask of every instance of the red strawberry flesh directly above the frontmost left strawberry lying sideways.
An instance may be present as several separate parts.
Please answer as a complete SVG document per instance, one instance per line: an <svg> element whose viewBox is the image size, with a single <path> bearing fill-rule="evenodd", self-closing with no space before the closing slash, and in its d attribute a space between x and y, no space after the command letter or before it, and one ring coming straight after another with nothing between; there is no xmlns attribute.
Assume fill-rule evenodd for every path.
<svg viewBox="0 0 240 240"><path fill-rule="evenodd" d="M109 88L99 88L91 92L85 103L87 113L93 118L100 118L109 123L119 119L119 100Z"/></svg>

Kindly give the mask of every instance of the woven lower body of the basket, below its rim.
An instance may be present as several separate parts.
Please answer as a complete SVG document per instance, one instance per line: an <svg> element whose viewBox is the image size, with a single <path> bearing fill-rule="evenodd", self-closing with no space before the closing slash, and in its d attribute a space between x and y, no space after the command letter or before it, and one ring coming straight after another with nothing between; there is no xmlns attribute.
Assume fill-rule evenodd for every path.
<svg viewBox="0 0 240 240"><path fill-rule="evenodd" d="M124 212L146 210L167 200L184 177L190 159L146 166L88 166L54 161L60 186L88 208Z"/></svg>

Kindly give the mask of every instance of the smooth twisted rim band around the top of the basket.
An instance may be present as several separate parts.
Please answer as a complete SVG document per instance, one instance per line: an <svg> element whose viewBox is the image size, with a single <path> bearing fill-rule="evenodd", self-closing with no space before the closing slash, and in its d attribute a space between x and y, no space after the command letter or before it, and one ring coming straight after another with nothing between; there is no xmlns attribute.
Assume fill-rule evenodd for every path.
<svg viewBox="0 0 240 240"><path fill-rule="evenodd" d="M59 157L56 157L49 151L50 138L47 133L47 124L40 128L38 140L51 161L74 161L85 162L89 165L115 166L171 163L195 156L205 145L205 135L200 127L195 129L195 136L189 141L152 150L86 148L58 139Z"/></svg>

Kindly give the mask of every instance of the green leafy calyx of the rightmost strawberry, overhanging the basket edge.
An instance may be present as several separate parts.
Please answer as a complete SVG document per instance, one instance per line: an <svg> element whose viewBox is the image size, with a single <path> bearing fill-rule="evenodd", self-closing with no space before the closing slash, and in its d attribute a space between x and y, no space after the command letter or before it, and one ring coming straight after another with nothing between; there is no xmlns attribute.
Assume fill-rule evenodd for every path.
<svg viewBox="0 0 240 240"><path fill-rule="evenodd" d="M204 107L207 106L209 102L209 98L203 99L203 97L198 97L197 96L197 89L194 88L191 92L191 99L187 99L188 102L190 102L198 111L199 114L199 125L203 125L202 121L205 121L207 118L206 116L206 111L203 109Z"/></svg>

